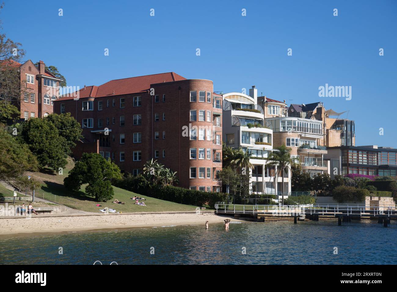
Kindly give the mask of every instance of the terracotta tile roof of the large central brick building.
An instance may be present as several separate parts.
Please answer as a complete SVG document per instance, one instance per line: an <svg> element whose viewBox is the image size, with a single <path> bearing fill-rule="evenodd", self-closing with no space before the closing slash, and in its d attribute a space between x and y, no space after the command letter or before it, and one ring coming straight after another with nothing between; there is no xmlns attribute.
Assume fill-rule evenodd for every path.
<svg viewBox="0 0 397 292"><path fill-rule="evenodd" d="M86 86L79 91L79 98L106 97L112 95L124 95L145 92L151 84L186 80L185 77L174 72L144 75L124 79L110 80L100 86ZM89 92L89 93L88 93ZM63 95L58 100L73 99L73 96Z"/></svg>

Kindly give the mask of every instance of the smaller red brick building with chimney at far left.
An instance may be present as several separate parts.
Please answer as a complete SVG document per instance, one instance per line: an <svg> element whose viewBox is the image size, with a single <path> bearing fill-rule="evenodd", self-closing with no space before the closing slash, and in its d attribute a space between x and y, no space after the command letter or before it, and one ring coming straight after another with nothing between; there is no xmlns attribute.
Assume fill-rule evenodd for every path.
<svg viewBox="0 0 397 292"><path fill-rule="evenodd" d="M58 84L62 80L45 70L43 61L39 62L39 68L31 60L23 64L13 60L6 62L21 74L21 101L15 102L21 112L20 118L27 120L52 114L53 102L59 97Z"/></svg>

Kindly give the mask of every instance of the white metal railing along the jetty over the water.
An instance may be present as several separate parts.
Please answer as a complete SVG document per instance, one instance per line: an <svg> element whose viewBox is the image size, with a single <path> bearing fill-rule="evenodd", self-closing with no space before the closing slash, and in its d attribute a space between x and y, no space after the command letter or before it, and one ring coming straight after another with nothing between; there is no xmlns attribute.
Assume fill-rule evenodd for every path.
<svg viewBox="0 0 397 292"><path fill-rule="evenodd" d="M233 205L216 204L217 213L225 214L280 214L297 213L304 215L375 216L386 215L397 218L395 205L373 206L364 204L314 204L314 205ZM287 215L288 216L288 215Z"/></svg>

